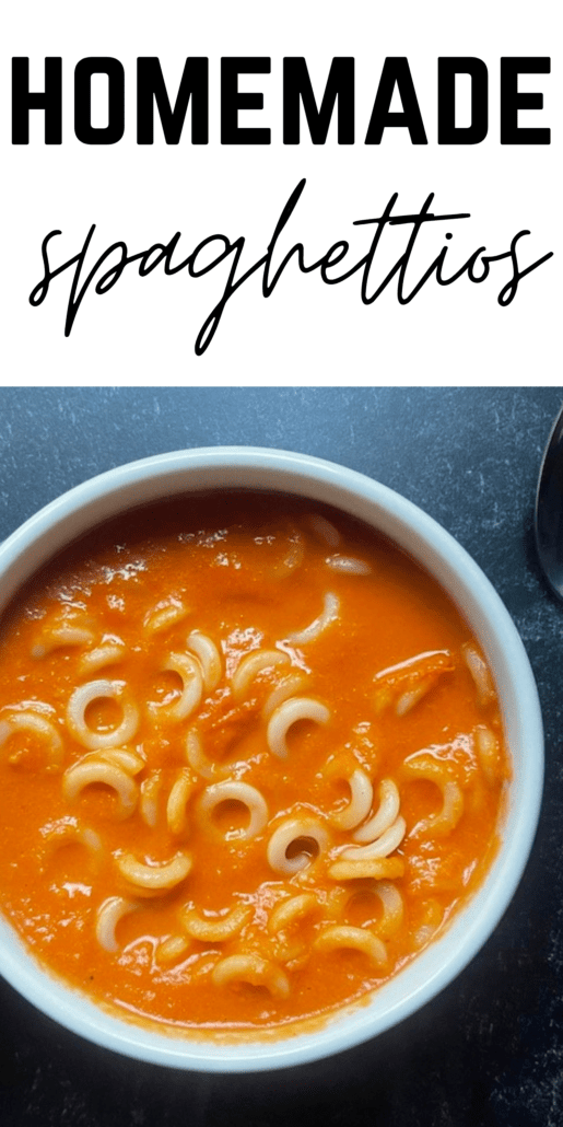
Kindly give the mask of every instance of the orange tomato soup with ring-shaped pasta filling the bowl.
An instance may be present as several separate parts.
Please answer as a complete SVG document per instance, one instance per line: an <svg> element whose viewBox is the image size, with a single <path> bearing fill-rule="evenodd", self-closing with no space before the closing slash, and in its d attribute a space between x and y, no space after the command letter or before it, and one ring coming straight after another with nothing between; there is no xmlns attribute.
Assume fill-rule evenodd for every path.
<svg viewBox="0 0 563 1127"><path fill-rule="evenodd" d="M205 494L102 525L0 640L0 903L98 1004L324 1020L447 926L510 765L452 601L352 518Z"/></svg>

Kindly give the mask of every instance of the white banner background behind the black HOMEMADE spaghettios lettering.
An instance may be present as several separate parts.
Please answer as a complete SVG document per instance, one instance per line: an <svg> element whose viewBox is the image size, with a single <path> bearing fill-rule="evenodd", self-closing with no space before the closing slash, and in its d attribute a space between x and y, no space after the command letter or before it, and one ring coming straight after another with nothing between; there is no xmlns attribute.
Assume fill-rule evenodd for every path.
<svg viewBox="0 0 563 1127"><path fill-rule="evenodd" d="M554 0L6 5L5 383L560 383L557 16ZM45 59L61 60L61 143L45 143L42 109L25 115L28 143L14 143L12 56L29 59L33 92L45 90ZM77 136L75 68L91 57L114 59L123 68L123 136L110 144ZM159 60L172 106L186 60L208 60L208 113L202 115L193 95L177 144L167 143L157 112L153 143L138 142L137 57ZM318 106L332 60L354 60L352 82L343 80L341 95L350 108L355 92L342 125L348 143L339 143L340 103L324 143L312 142L303 107L300 141L287 143L285 57L305 59ZM448 57L484 64L474 82L483 96L486 73L486 135L476 143L439 143L452 98L446 82L438 89L438 60ZM507 122L548 130L549 144L501 143L501 60L510 57L551 59L548 73L530 64L531 72L515 80L518 94L509 79L502 94ZM269 61L269 71L260 73L239 66L239 99L254 95L254 106L234 116L239 128L269 131L269 144L253 143L256 134L251 143L225 141L222 100L223 110L232 112L233 97L224 76L222 99L222 59ZM386 59L408 60L418 139L422 125L426 143L413 143L417 115L412 99L410 110L405 104L404 80L395 82L382 110ZM472 118L467 74L459 74L455 91L455 126L467 136L462 131L473 118L483 125L483 97ZM530 96L534 108L526 108ZM14 100L18 113L21 98ZM117 94L109 108L108 79L95 74L92 135L101 137L111 122L118 127L118 103ZM199 125L208 123L206 144L194 143L193 108ZM393 124L388 114L403 114L408 124ZM78 118L83 134L83 109ZM366 143L384 119L381 141ZM413 218L422 214L466 218L427 219L417 227ZM375 222L385 215L411 220ZM42 287L42 243L54 231L60 233L47 245L48 269L71 265ZM294 250L298 243L302 251ZM431 269L440 255L443 282L459 274L447 285ZM205 266L211 268L204 274ZM427 272L426 283L403 303ZM240 281L232 293L231 285ZM215 330L211 339L206 325Z"/></svg>

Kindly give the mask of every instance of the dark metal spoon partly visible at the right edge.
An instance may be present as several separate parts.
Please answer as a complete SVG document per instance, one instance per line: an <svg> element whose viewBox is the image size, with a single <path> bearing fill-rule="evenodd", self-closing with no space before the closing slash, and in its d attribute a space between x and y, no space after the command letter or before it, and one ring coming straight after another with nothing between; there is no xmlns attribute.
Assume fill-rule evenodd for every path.
<svg viewBox="0 0 563 1127"><path fill-rule="evenodd" d="M537 482L534 533L548 586L563 600L563 407L555 419Z"/></svg>

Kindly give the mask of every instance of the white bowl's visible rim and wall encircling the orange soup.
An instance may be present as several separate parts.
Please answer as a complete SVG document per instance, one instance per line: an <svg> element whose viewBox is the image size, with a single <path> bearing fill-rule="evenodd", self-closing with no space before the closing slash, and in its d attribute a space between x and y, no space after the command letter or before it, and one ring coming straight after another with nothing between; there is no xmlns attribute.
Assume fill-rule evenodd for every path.
<svg viewBox="0 0 563 1127"><path fill-rule="evenodd" d="M162 454L102 473L47 505L1 545L0 611L41 564L99 521L177 492L236 487L274 489L336 506L381 530L423 564L462 611L494 671L513 779L501 848L465 909L373 1001L313 1032L224 1045L129 1024L42 970L0 920L0 971L44 1013L126 1056L208 1072L279 1068L330 1056L383 1032L444 990L490 937L515 893L534 841L543 788L537 690L520 637L495 591L431 517L385 486L331 462L286 451L211 447Z"/></svg>

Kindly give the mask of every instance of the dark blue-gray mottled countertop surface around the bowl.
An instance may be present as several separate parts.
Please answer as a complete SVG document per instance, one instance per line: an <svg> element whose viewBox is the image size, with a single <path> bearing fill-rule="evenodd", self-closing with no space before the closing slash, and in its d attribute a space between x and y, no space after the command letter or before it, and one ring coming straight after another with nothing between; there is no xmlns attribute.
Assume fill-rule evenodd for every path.
<svg viewBox="0 0 563 1127"><path fill-rule="evenodd" d="M404 494L471 552L537 678L546 789L495 933L426 1009L337 1059L203 1076L120 1059L0 985L2 1127L561 1127L563 605L538 574L537 471L563 388L0 389L0 539L95 473L186 446L251 444L342 462Z"/></svg>

